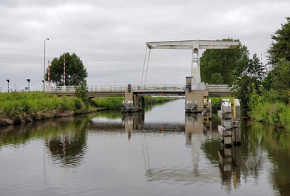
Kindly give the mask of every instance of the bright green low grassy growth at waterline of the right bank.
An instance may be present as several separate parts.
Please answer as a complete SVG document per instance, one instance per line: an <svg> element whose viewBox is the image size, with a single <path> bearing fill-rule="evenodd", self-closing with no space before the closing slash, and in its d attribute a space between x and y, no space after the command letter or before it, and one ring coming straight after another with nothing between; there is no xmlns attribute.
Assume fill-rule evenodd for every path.
<svg viewBox="0 0 290 196"><path fill-rule="evenodd" d="M284 103L258 103L251 109L251 119L284 127L290 131L290 107Z"/></svg>

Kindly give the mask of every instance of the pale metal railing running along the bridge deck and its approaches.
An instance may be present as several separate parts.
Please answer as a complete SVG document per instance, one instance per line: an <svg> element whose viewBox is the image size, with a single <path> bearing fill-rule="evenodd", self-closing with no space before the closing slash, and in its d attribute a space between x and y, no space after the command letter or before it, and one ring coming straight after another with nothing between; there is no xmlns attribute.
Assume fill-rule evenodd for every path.
<svg viewBox="0 0 290 196"><path fill-rule="evenodd" d="M79 86L57 86L53 87L52 91L59 92L75 92L75 89ZM126 91L128 86L126 85L96 85L88 86L89 92L96 91ZM133 91L185 91L185 85L183 84L151 84L145 86L133 85L131 86ZM231 87L226 84L207 84L204 87L205 90L209 91L231 91Z"/></svg>

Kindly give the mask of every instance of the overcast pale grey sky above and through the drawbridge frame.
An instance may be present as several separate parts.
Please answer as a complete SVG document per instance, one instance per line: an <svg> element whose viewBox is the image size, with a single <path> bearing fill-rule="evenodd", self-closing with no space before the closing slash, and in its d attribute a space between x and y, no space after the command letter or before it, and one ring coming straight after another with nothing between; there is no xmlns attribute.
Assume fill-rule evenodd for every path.
<svg viewBox="0 0 290 196"><path fill-rule="evenodd" d="M221 3L222 2L222 3ZM41 90L48 60L76 53L88 85L140 84L146 42L240 39L266 62L289 0L1 0L0 91ZM184 84L191 51L152 50L146 84Z"/></svg>

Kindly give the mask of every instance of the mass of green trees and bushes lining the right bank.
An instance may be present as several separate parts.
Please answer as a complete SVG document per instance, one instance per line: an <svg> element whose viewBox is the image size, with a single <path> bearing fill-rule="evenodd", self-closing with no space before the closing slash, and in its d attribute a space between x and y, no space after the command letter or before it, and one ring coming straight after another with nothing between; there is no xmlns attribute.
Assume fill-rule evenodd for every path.
<svg viewBox="0 0 290 196"><path fill-rule="evenodd" d="M290 17L287 17L287 21L287 24L283 24L282 28L272 35L276 42L271 44L268 53L269 64L273 65L273 69L266 78L261 81L259 77L255 77L262 75L263 71L260 70L264 68L257 66L259 63L254 57L246 73L253 81L248 103L251 118L290 130Z"/></svg>

